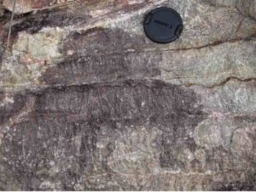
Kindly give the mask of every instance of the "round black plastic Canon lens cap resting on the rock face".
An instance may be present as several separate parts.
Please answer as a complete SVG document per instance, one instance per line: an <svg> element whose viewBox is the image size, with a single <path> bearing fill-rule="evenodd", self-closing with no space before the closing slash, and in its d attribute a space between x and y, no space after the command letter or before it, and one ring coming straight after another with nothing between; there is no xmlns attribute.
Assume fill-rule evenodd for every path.
<svg viewBox="0 0 256 192"><path fill-rule="evenodd" d="M144 31L153 42L173 42L183 31L183 20L172 8L154 8L143 22Z"/></svg>

